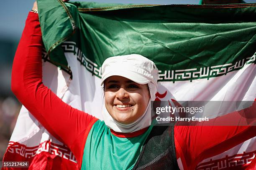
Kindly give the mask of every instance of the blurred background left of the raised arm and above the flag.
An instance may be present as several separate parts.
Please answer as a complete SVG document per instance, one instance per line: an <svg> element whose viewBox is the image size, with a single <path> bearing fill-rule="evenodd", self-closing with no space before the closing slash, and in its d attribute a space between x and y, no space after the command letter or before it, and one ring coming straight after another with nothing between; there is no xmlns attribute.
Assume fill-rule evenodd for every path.
<svg viewBox="0 0 256 170"><path fill-rule="evenodd" d="M85 1L85 0L80 0ZM90 1L90 0L89 0ZM91 0L105 3L134 4L216 4L239 3L241 0ZM0 162L13 132L20 102L10 90L13 57L34 0L5 0L0 6ZM256 0L245 0L255 3Z"/></svg>

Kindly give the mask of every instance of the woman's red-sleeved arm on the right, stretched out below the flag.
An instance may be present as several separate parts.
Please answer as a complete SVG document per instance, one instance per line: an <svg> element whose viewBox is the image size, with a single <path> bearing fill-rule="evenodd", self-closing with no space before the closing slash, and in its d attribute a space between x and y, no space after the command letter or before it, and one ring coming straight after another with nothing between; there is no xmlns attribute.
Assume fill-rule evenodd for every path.
<svg viewBox="0 0 256 170"><path fill-rule="evenodd" d="M227 122L233 126L217 126L228 125ZM174 136L178 155L187 167L195 169L200 161L256 136L256 102L251 107L216 117L209 122L192 122L190 126L177 124Z"/></svg>

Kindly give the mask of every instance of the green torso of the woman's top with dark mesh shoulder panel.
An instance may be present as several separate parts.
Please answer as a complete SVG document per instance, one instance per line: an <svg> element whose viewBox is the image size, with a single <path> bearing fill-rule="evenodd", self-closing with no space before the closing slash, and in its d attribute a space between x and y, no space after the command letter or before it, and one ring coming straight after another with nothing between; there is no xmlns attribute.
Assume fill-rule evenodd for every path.
<svg viewBox="0 0 256 170"><path fill-rule="evenodd" d="M143 169L148 165L150 159L154 158L154 154L147 157L148 153L156 153L158 155L166 155L166 145L169 145L169 140L164 143L159 143L159 137L161 134L166 135L170 128L162 128L164 126L151 125L145 133L133 137L133 138L120 138L113 135L110 129L105 125L103 121L97 120L92 126L90 133L87 136L87 140L84 146L84 155L82 158L82 170L132 170ZM159 130L159 128L161 130ZM153 129L153 130L152 130ZM156 133L157 131L157 133ZM164 133L165 132L165 133ZM173 133L172 133L173 134ZM160 136L159 136L160 135ZM168 135L169 136L169 135ZM173 135L168 137L173 138ZM157 142L158 146L154 147L154 143ZM153 145L152 145L153 144ZM164 152L159 150L159 147L164 144ZM169 145L172 146L172 145ZM151 149L151 147L153 147ZM174 149L172 156L175 155ZM171 150L170 150L171 151ZM169 149L167 147L167 153ZM168 155L168 154L167 154ZM177 164L176 156L171 161ZM149 161L149 162L148 162ZM158 164L154 162L154 164ZM168 161L166 163L169 163ZM175 169L177 170L177 169Z"/></svg>

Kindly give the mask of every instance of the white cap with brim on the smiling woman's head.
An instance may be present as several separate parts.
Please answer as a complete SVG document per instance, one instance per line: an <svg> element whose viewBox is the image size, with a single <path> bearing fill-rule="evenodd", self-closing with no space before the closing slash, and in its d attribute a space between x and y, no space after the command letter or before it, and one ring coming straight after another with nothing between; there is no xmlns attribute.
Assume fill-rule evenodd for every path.
<svg viewBox="0 0 256 170"><path fill-rule="evenodd" d="M103 62L101 71L101 86L113 75L128 78L138 84L152 82L155 86L159 77L155 63L139 54L109 57Z"/></svg>

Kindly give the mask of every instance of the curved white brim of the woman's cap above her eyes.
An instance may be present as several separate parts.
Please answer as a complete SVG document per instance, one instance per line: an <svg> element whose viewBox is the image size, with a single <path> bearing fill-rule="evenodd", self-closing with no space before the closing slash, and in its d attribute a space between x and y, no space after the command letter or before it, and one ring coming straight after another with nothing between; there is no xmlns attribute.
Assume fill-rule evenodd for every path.
<svg viewBox="0 0 256 170"><path fill-rule="evenodd" d="M130 79L130 80L132 80L132 81L134 81L138 84L142 84L142 85L151 82L146 77L144 77L143 75L138 74L137 72L132 72L132 71L128 71L128 70L125 70L125 71L120 71L120 70L115 70L114 71L113 70L113 71L107 73L106 75L104 75L104 77L102 77L100 85L102 86L104 81L108 77L113 76L113 75L118 75L118 76L128 78L128 79Z"/></svg>

